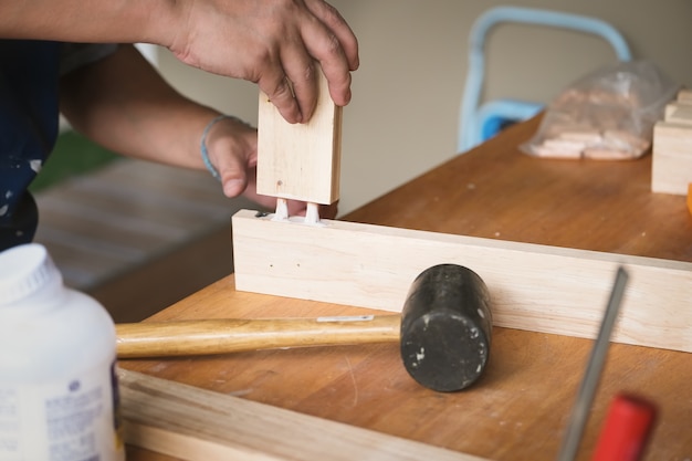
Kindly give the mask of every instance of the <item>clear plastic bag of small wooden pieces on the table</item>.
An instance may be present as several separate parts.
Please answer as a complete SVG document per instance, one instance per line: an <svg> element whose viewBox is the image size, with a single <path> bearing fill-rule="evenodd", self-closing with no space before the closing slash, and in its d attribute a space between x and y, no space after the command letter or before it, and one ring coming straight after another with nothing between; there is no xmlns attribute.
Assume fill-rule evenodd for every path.
<svg viewBox="0 0 692 461"><path fill-rule="evenodd" d="M538 130L521 149L548 158L639 158L651 146L653 125L679 88L648 61L599 69L546 107Z"/></svg>

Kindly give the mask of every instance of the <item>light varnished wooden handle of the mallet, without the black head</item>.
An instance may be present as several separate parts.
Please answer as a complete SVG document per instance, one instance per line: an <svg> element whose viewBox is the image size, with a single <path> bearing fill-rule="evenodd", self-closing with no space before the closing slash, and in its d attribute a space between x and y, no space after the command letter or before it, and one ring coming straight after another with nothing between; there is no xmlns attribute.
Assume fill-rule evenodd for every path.
<svg viewBox="0 0 692 461"><path fill-rule="evenodd" d="M399 340L399 315L203 319L116 325L120 358Z"/></svg>

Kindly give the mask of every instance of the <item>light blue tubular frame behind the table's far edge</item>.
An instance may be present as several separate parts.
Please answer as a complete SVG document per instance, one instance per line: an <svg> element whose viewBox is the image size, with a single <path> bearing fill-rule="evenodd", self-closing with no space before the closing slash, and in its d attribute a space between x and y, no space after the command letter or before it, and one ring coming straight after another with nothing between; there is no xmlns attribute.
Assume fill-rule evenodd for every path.
<svg viewBox="0 0 692 461"><path fill-rule="evenodd" d="M485 67L485 38L501 22L547 25L596 34L610 43L620 61L632 59L622 35L599 19L534 8L497 7L487 10L475 20L469 38L469 70L457 140L460 153L494 136L505 125L531 118L543 109L543 104L510 98L491 101L479 107Z"/></svg>

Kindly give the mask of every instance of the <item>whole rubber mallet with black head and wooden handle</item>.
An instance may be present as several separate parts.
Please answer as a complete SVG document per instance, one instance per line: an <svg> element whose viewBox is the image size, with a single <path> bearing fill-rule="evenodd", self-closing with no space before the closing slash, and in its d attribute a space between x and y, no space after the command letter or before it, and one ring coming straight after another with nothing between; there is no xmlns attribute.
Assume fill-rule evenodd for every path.
<svg viewBox="0 0 692 461"><path fill-rule="evenodd" d="M491 332L485 284L473 271L457 264L436 265L418 275L401 315L116 325L119 358L400 342L401 358L411 377L438 391L463 389L482 375Z"/></svg>

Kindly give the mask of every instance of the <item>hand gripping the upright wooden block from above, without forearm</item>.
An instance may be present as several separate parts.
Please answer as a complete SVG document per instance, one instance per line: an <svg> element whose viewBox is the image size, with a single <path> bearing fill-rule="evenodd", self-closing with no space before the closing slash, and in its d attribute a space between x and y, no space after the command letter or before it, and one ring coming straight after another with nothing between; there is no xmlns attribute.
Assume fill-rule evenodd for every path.
<svg viewBox="0 0 692 461"><path fill-rule="evenodd" d="M358 43L323 0L181 2L168 45L186 64L254 82L290 123L307 122L322 67L335 104L350 101Z"/></svg>

